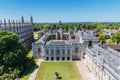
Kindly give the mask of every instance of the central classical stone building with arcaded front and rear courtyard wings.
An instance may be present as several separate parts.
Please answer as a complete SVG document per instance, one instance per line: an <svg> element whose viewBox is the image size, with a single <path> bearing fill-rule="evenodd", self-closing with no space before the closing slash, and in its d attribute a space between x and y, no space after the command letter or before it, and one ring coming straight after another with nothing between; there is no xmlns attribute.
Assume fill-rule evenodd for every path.
<svg viewBox="0 0 120 80"><path fill-rule="evenodd" d="M64 61L80 59L83 46L71 39L70 30L62 29L46 32L38 41L32 44L33 57L44 57L44 60Z"/></svg>

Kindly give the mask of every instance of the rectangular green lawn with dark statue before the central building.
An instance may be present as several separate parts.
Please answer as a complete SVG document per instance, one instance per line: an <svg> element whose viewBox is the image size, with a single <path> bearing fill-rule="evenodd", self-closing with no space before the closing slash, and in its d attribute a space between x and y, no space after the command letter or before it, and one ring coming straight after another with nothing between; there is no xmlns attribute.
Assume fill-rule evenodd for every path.
<svg viewBox="0 0 120 80"><path fill-rule="evenodd" d="M82 80L74 62L42 62L35 80L55 80L55 72L60 80Z"/></svg>

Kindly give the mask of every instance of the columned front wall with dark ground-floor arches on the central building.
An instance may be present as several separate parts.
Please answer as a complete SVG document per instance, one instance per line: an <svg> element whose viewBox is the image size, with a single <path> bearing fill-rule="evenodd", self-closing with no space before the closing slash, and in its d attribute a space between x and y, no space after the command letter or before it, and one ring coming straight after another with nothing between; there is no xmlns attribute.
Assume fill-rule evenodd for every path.
<svg viewBox="0 0 120 80"><path fill-rule="evenodd" d="M72 49L70 46L69 47L45 46L44 60L45 61L71 61Z"/></svg>

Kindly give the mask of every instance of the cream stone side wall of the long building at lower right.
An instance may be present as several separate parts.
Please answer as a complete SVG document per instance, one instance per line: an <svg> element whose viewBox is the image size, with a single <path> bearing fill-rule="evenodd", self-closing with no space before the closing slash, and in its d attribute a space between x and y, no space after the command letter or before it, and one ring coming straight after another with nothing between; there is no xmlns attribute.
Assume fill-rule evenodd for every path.
<svg viewBox="0 0 120 80"><path fill-rule="evenodd" d="M119 80L114 76L117 74L112 68L106 63L100 63L97 57L95 58L95 55L91 55L91 53L89 49L86 49L85 64L97 80Z"/></svg>

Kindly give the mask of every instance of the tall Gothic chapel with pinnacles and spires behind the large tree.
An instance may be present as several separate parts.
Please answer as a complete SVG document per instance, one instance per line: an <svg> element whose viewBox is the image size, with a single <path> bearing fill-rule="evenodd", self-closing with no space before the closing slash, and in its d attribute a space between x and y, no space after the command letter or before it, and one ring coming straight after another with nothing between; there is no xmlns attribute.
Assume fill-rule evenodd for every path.
<svg viewBox="0 0 120 80"><path fill-rule="evenodd" d="M33 42L33 18L30 17L30 22L25 22L24 17L21 21L10 21L8 23L4 20L4 23L0 22L0 30L7 30L18 34L19 41L25 47L28 47Z"/></svg>

